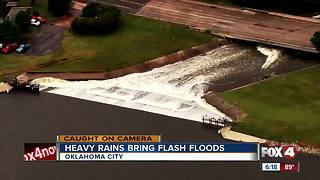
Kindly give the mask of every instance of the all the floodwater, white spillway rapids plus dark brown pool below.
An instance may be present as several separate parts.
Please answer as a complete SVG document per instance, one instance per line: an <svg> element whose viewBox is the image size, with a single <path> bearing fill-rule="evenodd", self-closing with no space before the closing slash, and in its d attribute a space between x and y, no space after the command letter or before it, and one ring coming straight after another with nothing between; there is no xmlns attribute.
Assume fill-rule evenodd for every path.
<svg viewBox="0 0 320 180"><path fill-rule="evenodd" d="M280 52L265 49L269 52ZM269 56L268 56L269 57ZM164 142L229 142L200 123L159 115L224 116L205 104L208 90L230 88L257 75L312 65L280 52L269 61L253 47L229 45L146 73L105 80L68 82L39 79L49 93L0 94L2 179L317 179L319 156L298 153L300 173L261 172L257 162L41 162L23 161L23 143L55 142L59 134L161 134ZM274 56L273 56L274 57ZM291 68L291 69L290 69ZM283 71L281 71L283 72ZM242 78L242 79L241 79ZM250 79L251 80L251 79ZM225 85L229 82L235 82ZM238 83L238 84L237 84ZM49 88L51 87L51 88ZM70 98L70 97L76 98ZM103 103L96 103L90 101ZM127 106L128 108L116 107ZM139 108L140 111L133 110ZM160 112L147 113L143 111ZM167 113L167 114L166 114ZM284 162L285 159L277 159Z"/></svg>

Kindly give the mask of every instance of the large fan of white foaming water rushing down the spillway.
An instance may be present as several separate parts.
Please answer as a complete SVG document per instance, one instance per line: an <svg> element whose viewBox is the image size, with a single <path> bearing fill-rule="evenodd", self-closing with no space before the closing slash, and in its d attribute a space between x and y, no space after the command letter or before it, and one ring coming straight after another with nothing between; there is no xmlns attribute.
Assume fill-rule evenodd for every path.
<svg viewBox="0 0 320 180"><path fill-rule="evenodd" d="M214 79L239 70L256 67L249 63L251 50L233 45L223 46L206 55L156 68L145 73L130 74L103 81L70 82L54 78L36 79L54 94L65 95L121 107L143 110L194 121L202 116L227 118L207 104L202 96ZM264 60L263 60L264 61ZM243 64L241 66L241 64ZM261 64L258 66L261 67ZM49 88L50 87L50 88Z"/></svg>

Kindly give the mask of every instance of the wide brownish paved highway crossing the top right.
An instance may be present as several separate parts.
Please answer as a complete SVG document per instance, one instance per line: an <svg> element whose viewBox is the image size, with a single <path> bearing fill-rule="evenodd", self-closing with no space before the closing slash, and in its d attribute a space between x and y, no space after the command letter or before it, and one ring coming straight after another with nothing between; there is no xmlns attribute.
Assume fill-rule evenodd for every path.
<svg viewBox="0 0 320 180"><path fill-rule="evenodd" d="M223 33L235 39L310 52L316 50L309 40L314 32L320 30L320 22L314 22L313 19L225 8L189 0L152 0L137 14Z"/></svg>

